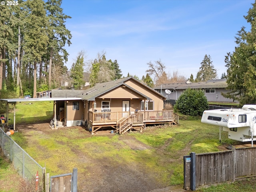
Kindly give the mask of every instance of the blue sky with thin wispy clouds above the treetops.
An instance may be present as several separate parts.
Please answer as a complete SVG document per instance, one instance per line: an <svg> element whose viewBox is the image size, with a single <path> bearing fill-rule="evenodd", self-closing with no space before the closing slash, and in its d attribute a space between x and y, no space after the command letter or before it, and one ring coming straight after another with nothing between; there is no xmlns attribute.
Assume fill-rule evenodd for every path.
<svg viewBox="0 0 256 192"><path fill-rule="evenodd" d="M148 62L161 60L166 72L178 71L194 78L205 54L220 78L224 58L234 51L234 36L242 26L253 0L63 0L71 19L72 45L66 66L70 70L78 52L86 62L106 52L117 60L123 76L146 76Z"/></svg>

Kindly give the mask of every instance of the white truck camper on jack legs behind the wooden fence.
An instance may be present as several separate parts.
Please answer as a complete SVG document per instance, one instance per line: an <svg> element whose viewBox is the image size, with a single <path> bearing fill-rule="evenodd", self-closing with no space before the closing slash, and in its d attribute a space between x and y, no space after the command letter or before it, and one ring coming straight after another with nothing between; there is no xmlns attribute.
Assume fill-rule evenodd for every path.
<svg viewBox="0 0 256 192"><path fill-rule="evenodd" d="M244 105L242 109L214 109L204 111L202 123L220 126L228 132L228 138L252 142L256 140L256 105Z"/></svg>

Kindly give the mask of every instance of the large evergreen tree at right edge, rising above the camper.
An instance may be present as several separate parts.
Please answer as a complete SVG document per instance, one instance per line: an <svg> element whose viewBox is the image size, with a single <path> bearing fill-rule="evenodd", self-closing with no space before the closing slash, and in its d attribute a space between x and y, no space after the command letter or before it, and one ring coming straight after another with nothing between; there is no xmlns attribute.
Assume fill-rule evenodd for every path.
<svg viewBox="0 0 256 192"><path fill-rule="evenodd" d="M243 26L235 37L237 46L234 52L225 57L227 89L232 91L223 94L226 98L238 100L240 105L256 103L256 3L244 18L251 25L251 31L247 32Z"/></svg>

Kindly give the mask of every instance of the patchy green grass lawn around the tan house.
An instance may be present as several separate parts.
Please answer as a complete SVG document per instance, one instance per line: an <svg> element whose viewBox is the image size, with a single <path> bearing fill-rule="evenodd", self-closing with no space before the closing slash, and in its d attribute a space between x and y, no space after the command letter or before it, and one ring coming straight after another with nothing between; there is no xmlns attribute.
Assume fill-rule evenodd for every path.
<svg viewBox="0 0 256 192"><path fill-rule="evenodd" d="M50 111L53 108L52 103L47 102L41 106L37 106L36 102L18 104L16 106L18 109L16 111L17 124L24 122L22 118L25 118L26 122L31 122L30 118L33 114L30 110L24 113L26 106L33 106L30 108L31 111L35 107L41 108L41 111L36 112L41 121L52 118ZM42 109L46 111L42 112ZM218 127L202 124L198 118L180 120L178 126L147 127L142 133L134 131L125 135L95 134L92 136L81 127L73 127L58 130L27 129L15 133L12 138L41 166L46 165L46 171L50 173L50 176L69 173L72 168L76 167L80 174L78 186L85 182L82 180L85 179L87 186L95 188L97 181L98 183L102 180L105 183L108 182L106 178L102 178L106 172L114 176L118 174L118 171L122 173L123 170L127 171L125 169L127 165L133 172L138 171L142 175L150 175L148 180L155 180L162 187L176 185L182 188L183 156L190 152L219 151L225 144L237 143L227 139L226 132L222 132L222 143L220 143ZM1 175L2 173L0 182L4 180ZM254 183L255 179L252 178L198 191L247 192L255 187Z"/></svg>

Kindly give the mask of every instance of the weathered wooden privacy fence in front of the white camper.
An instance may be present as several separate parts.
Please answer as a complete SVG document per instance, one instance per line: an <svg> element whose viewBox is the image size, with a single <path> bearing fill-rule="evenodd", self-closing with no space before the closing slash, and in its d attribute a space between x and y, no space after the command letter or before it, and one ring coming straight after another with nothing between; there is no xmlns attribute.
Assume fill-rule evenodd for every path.
<svg viewBox="0 0 256 192"><path fill-rule="evenodd" d="M256 176L256 147L184 156L184 189Z"/></svg>

